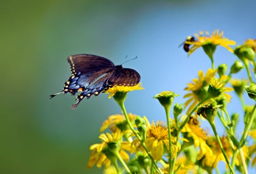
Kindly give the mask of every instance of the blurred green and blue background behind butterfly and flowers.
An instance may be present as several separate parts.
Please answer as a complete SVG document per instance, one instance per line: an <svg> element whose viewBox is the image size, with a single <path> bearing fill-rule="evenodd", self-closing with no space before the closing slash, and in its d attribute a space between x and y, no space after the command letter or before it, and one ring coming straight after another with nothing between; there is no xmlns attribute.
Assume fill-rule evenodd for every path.
<svg viewBox="0 0 256 174"><path fill-rule="evenodd" d="M0 173L101 173L87 169L89 147L102 121L120 113L105 94L84 99L60 91L70 76L66 57L96 54L141 74L145 90L129 93L128 112L164 120L152 97L183 96L199 69L210 67L202 50L187 57L178 48L199 30L224 30L238 44L255 38L255 1L1 1ZM236 59L218 48L219 62ZM246 78L245 71L238 77ZM234 97L234 108L241 109ZM175 102L183 103L182 97ZM251 101L246 101L250 103ZM207 124L206 124L207 126ZM223 132L223 130L220 130ZM224 165L223 165L224 166ZM224 167L225 168L225 167Z"/></svg>

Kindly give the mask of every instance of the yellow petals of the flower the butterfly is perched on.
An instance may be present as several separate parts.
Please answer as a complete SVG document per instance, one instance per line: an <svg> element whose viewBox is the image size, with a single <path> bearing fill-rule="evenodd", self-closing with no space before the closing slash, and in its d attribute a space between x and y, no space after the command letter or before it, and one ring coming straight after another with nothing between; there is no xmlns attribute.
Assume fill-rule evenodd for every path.
<svg viewBox="0 0 256 174"><path fill-rule="evenodd" d="M108 89L105 91L106 94L110 93L109 98L114 96L116 92L122 92L122 93L127 93L129 91L134 91L134 90L143 90L144 88L141 86L141 83L138 83L134 86L118 86L115 85L112 88Z"/></svg>

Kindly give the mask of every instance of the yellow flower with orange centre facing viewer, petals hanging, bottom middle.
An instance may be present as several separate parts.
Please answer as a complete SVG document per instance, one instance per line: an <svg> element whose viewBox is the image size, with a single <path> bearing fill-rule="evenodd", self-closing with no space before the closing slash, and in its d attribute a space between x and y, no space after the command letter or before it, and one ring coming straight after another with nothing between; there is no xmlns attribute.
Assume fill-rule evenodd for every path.
<svg viewBox="0 0 256 174"><path fill-rule="evenodd" d="M164 146L167 147L167 150L169 150L169 138L168 138L168 128L163 122L157 121L155 124L154 121L152 124L148 122L146 117L144 117L146 124L147 124L147 130L146 130L146 140L145 145L150 151L152 157L159 161L162 159L164 154ZM174 157L175 153L178 153L180 150L180 144L178 144L178 147L174 145L176 142L176 137L172 137L172 155ZM134 144L137 147L140 147L140 144L138 142L138 139L134 140Z"/></svg>

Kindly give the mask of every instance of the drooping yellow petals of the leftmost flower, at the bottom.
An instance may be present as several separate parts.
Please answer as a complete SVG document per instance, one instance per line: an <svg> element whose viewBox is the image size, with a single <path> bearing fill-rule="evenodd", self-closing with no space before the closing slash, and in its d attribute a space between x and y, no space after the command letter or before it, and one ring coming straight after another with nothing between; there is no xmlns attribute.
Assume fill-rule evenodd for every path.
<svg viewBox="0 0 256 174"><path fill-rule="evenodd" d="M132 148L131 143L122 141L122 135L123 133L121 133L120 131L117 131L116 133L112 134L101 134L99 138L101 139L102 143L93 144L90 147L90 150L92 150L92 154L89 159L87 167L91 168L96 162L96 166L98 168L100 168L102 164L104 164L105 168L110 167L110 158L114 156L114 154L111 153L109 147L109 144L111 143L120 144L119 155L124 161L128 161L129 155L126 153L126 151L133 152L134 149Z"/></svg>

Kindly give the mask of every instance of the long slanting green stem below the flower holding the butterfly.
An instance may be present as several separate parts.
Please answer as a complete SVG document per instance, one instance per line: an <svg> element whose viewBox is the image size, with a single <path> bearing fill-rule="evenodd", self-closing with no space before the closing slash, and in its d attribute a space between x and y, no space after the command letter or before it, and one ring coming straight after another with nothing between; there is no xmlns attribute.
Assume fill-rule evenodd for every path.
<svg viewBox="0 0 256 174"><path fill-rule="evenodd" d="M138 140L141 142L141 144L142 144L144 150L146 151L148 157L150 157L150 159L151 159L151 161L152 161L152 163L153 163L153 165L154 165L154 168L156 169L157 172L163 173L163 172L158 168L157 164L155 163L154 158L150 155L150 152L147 150L146 145L145 145L145 143L142 141L142 138L140 137L140 135L135 131L135 129L134 129L134 127L133 127L133 125L132 125L132 123L131 123L131 121L130 121L128 115L127 115L126 109L125 109L125 107L124 107L124 100L123 100L123 101L120 101L120 100L119 100L119 101L117 101L117 103L118 103L118 105L121 107L121 109L122 109L122 111L123 111L123 115L124 115L124 117L125 117L125 119L126 119L128 125L129 125L130 129L132 130L132 132L134 133L134 135L138 138Z"/></svg>

